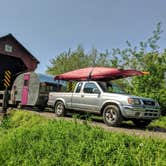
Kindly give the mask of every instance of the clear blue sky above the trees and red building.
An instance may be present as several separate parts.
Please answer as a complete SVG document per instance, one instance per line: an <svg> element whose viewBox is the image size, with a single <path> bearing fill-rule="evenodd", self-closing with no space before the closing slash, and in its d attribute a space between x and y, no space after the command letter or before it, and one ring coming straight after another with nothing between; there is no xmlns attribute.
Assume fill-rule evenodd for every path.
<svg viewBox="0 0 166 166"><path fill-rule="evenodd" d="M50 60L79 44L105 51L134 46L152 36L158 22L166 48L165 0L0 0L0 36L12 33L39 61Z"/></svg>

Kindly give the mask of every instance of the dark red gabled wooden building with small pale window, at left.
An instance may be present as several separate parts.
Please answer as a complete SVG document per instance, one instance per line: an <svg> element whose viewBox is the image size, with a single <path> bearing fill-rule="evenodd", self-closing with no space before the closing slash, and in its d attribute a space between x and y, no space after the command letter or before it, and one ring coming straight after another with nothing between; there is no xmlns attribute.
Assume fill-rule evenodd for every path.
<svg viewBox="0 0 166 166"><path fill-rule="evenodd" d="M39 61L12 35L0 37L0 89L4 89L4 72L11 72L12 82L19 73L34 71Z"/></svg>

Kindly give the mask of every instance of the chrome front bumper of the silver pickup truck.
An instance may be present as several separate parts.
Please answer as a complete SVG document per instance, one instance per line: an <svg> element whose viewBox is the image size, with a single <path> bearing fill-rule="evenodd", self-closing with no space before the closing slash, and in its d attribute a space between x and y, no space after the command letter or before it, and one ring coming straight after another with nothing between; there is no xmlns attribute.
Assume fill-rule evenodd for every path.
<svg viewBox="0 0 166 166"><path fill-rule="evenodd" d="M136 119L157 119L160 116L160 109L157 107L136 107L123 106L122 115L125 118Z"/></svg>

